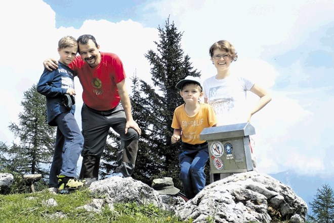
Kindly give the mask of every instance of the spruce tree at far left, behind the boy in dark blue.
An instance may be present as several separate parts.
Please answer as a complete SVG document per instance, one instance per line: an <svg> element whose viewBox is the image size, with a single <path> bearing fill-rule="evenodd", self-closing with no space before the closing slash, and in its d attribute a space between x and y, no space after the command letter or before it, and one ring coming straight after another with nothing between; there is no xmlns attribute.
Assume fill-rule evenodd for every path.
<svg viewBox="0 0 334 223"><path fill-rule="evenodd" d="M9 126L18 140L11 146L1 146L0 150L8 155L12 170L21 174L48 175L46 167L52 161L55 127L47 123L46 97L33 85L24 92L21 105L23 112L19 113L19 123Z"/></svg>

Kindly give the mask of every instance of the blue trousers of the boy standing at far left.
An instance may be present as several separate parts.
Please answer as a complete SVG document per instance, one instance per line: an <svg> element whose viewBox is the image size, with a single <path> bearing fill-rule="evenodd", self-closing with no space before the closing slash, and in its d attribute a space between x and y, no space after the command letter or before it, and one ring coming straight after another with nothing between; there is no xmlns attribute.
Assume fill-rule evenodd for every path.
<svg viewBox="0 0 334 223"><path fill-rule="evenodd" d="M50 169L50 188L58 188L57 175L77 177L76 164L84 145L84 137L72 113L59 114L55 122L57 123L57 135Z"/></svg>

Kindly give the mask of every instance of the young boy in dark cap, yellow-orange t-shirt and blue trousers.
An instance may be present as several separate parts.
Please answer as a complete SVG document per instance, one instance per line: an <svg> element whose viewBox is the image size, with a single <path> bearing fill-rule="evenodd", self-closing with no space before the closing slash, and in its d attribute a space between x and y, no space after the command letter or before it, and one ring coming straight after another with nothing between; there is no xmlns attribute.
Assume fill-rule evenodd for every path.
<svg viewBox="0 0 334 223"><path fill-rule="evenodd" d="M174 111L172 143L182 138L180 178L186 197L191 199L205 187L204 167L209 158L207 142L200 140L199 134L204 128L216 126L217 117L211 105L199 101L203 96L199 78L188 76L176 88L185 103Z"/></svg>

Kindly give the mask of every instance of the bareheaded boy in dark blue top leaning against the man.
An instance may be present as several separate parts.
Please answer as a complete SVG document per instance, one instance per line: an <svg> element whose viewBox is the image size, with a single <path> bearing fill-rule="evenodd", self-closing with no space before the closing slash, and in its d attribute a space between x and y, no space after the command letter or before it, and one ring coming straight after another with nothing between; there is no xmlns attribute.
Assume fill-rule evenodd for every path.
<svg viewBox="0 0 334 223"><path fill-rule="evenodd" d="M44 69L37 84L37 92L47 97L48 124L57 126L49 187L58 188L60 193L84 184L76 179L76 164L84 137L74 118L74 72L68 67L77 50L77 42L72 36L61 38L58 42L59 67L53 71Z"/></svg>

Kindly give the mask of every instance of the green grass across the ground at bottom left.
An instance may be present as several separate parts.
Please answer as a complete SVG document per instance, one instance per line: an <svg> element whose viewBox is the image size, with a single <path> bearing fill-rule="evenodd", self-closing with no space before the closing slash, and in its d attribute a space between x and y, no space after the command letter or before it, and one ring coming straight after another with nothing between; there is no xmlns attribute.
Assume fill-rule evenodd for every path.
<svg viewBox="0 0 334 223"><path fill-rule="evenodd" d="M54 199L57 206L47 206L45 201ZM163 211L153 204L137 205L135 202L114 204L110 210L104 207L100 213L77 208L90 204L94 195L88 189L70 194L52 194L45 190L37 193L0 195L1 222L116 222L116 223L166 223L188 222L170 211ZM57 216L58 214L58 216ZM62 216L62 217L59 217Z"/></svg>

